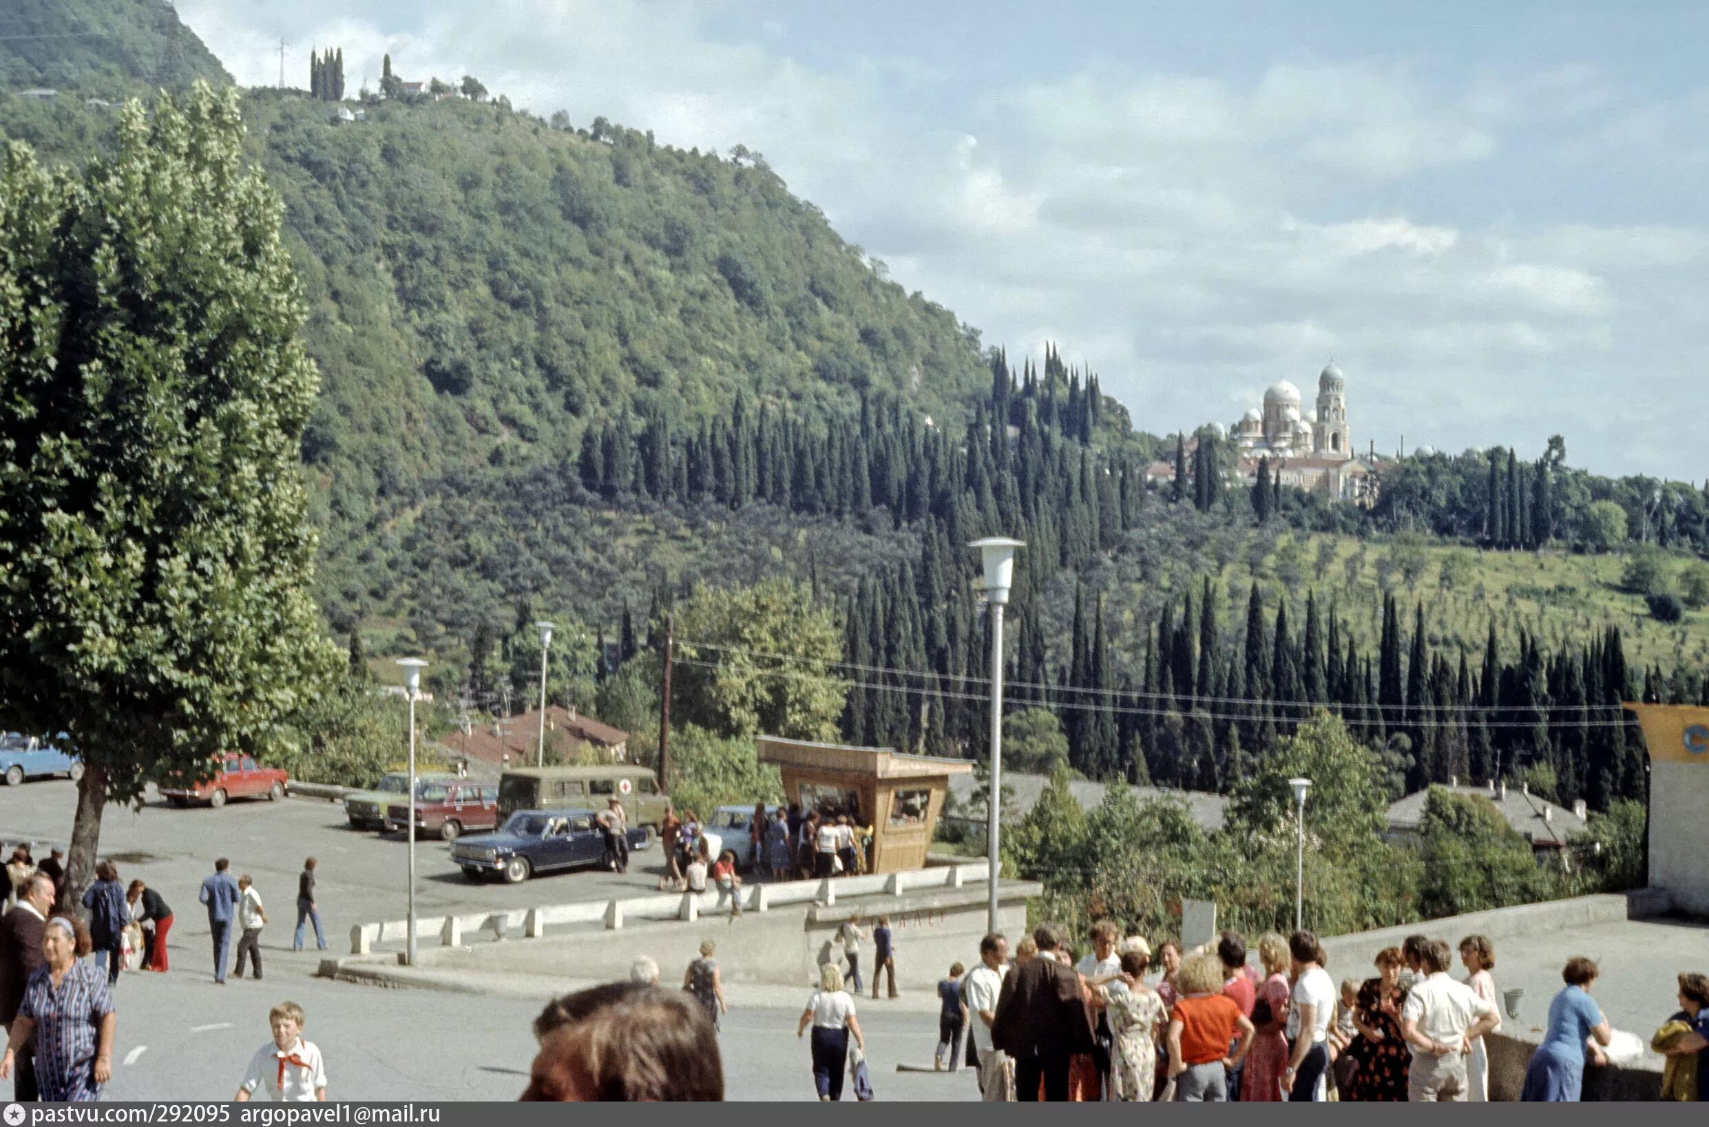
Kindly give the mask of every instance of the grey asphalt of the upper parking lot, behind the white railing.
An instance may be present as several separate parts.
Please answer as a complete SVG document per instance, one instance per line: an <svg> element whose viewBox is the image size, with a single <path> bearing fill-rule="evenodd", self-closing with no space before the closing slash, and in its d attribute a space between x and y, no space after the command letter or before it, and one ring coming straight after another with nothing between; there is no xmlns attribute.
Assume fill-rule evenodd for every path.
<svg viewBox="0 0 1709 1127"><path fill-rule="evenodd" d="M72 833L75 808L77 787L63 779L0 787L0 838L63 847ZM304 857L318 861L320 912L326 943L335 953L349 951L352 924L405 915L403 837L354 830L345 821L344 806L325 799L232 801L224 809L176 809L150 791L140 811L108 806L101 855L118 864L126 883L142 878L173 905L178 915L171 941L174 960L179 946L195 958L207 949L208 927L197 905L197 890L202 878L212 873L215 857L231 857L234 874L255 878L272 917L261 934L263 949L291 946L297 873ZM521 885L473 885L451 864L446 844L424 838L415 844L415 908L420 915L443 915L646 893L656 890L661 866L663 857L655 847L634 854L629 873L622 876L578 869L537 876Z"/></svg>

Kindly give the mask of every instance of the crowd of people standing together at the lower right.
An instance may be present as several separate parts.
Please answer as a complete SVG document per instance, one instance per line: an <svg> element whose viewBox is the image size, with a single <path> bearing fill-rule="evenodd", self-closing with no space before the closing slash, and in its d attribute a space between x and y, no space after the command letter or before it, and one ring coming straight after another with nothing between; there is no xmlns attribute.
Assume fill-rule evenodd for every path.
<svg viewBox="0 0 1709 1127"><path fill-rule="evenodd" d="M1410 936L1377 953L1369 978L1336 984L1316 936L1244 936L1184 953L1121 937L1111 922L1075 958L1041 926L1008 958L986 936L979 965L938 984L938 1067L957 1067L962 1035L984 1100L1482 1101L1487 1036L1501 1030L1495 948ZM1584 1066L1605 1064L1613 1031L1591 999L1596 965L1567 961L1521 1100L1581 1098ZM1155 975L1155 977L1154 977ZM1709 978L1680 975L1680 1011L1653 1040L1668 1059L1665 1098L1709 1093ZM817 1076L817 1062L815 1062Z"/></svg>

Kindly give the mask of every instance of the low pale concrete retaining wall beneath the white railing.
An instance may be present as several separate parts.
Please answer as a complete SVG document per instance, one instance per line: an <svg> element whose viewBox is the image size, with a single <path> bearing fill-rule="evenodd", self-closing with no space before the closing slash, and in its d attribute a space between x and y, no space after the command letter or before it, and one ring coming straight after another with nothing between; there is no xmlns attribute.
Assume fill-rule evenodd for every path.
<svg viewBox="0 0 1709 1127"><path fill-rule="evenodd" d="M1005 883L1000 929L1019 937L1027 926L1027 896L1041 891L1025 881ZM419 965L436 970L543 975L555 978L624 978L637 955L658 961L663 980L678 982L699 956L702 939L718 944L714 958L728 982L812 985L819 965L841 958L834 944L837 926L861 912L861 927L877 915L890 917L896 943L897 987L930 990L950 963L972 965L986 929L984 888L942 888L899 896L839 898L836 905L786 905L740 917L702 915L699 920L641 922L620 931L581 931L543 939L484 943L468 948L424 948ZM861 944L861 975L870 984L872 943Z"/></svg>

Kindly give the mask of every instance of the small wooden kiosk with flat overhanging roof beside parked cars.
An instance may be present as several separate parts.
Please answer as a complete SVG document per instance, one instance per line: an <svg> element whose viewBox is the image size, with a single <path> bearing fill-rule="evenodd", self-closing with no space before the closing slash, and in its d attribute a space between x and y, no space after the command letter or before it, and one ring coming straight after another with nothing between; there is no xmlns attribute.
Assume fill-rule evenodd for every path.
<svg viewBox="0 0 1709 1127"><path fill-rule="evenodd" d="M889 748L849 748L761 736L759 762L776 763L783 789L803 811L831 809L872 826L873 873L921 869L943 811L950 775L972 772L966 760L899 755Z"/></svg>

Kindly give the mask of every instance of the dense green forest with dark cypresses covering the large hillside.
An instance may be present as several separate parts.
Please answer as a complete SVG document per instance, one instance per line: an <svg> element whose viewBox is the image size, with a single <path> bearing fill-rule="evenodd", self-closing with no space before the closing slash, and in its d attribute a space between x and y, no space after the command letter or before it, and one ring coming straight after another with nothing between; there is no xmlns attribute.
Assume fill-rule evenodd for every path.
<svg viewBox="0 0 1709 1127"><path fill-rule="evenodd" d="M62 39L0 43L5 89L67 96L0 97L0 135L50 157L108 143L84 92L227 80L162 2L22 12ZM1027 541L1010 698L1054 715L1087 775L1230 789L1328 705L1395 791L1547 772L1605 808L1642 791L1615 702L1709 692L1687 647L1709 601L1704 488L1591 475L1564 441L1395 459L1369 511L1268 475L1248 488L1220 429L1145 434L1054 348L1010 364L761 154L540 118L468 75L412 96L390 60L386 96L332 106L342 53L301 70L304 89L248 91L243 111L323 379L302 447L321 604L369 649L431 654L441 693L494 705L489 651L530 608L591 645L651 606L627 634L656 637L697 584L781 572L841 623L843 738L974 755L986 644L964 545L986 533ZM1313 536L1306 579L1285 557ZM1357 557L1335 557L1345 540ZM1642 623L1543 622L1511 589L1449 620L1417 541L1531 553L1540 589L1550 560L1627 553L1622 598L1677 632L1629 666ZM1376 584L1365 543L1388 548ZM1536 603L1565 603L1548 581ZM1439 587L1482 591L1448 560ZM725 659L728 639L689 640ZM648 651L595 649L588 685Z"/></svg>

